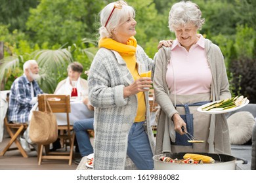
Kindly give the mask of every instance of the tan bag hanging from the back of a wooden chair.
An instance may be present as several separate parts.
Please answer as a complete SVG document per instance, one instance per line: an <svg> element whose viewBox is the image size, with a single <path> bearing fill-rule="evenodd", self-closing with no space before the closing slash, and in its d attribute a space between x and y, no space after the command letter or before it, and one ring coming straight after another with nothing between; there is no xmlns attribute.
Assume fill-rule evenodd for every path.
<svg viewBox="0 0 256 183"><path fill-rule="evenodd" d="M30 139L37 144L51 144L58 138L58 125L55 115L44 95L45 111L33 111L30 121ZM47 111L47 107L50 112Z"/></svg>

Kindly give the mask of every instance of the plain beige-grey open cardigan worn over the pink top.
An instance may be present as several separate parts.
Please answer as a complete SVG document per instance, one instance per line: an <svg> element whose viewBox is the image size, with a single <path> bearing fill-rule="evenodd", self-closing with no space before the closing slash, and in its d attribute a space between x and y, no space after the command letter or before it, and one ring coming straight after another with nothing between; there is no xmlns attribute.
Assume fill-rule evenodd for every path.
<svg viewBox="0 0 256 183"><path fill-rule="evenodd" d="M158 118L158 133L156 136L156 154L163 150L163 132L165 122L173 123L171 117L177 113L169 98L169 90L166 82L167 64L170 61L171 48L160 48L155 56L156 69L154 75L154 93L156 101L160 105ZM213 101L230 98L228 77L224 65L223 54L219 47L208 39L205 39L205 54L213 76L211 82L211 97ZM167 119L168 118L168 119ZM174 129L173 129L174 131ZM209 152L231 154L228 125L224 114L212 114L209 132ZM169 150L171 152L171 149Z"/></svg>

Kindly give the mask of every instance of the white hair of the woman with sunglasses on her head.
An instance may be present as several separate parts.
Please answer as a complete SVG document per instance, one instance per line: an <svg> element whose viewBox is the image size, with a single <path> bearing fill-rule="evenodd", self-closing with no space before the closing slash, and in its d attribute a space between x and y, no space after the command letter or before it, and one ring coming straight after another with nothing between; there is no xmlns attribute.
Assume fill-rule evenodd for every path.
<svg viewBox="0 0 256 183"><path fill-rule="evenodd" d="M98 33L100 34L100 39L101 38L111 38L112 33L114 29L120 25L123 24L123 22L126 21L128 16L132 16L135 18L135 10L133 7L127 5L125 1L120 1L122 8L115 8L114 12L112 13L112 16L108 20L108 17L110 16L114 4L117 3L118 1L114 3L110 3L106 5L101 11L100 11L100 25L101 27L98 29ZM105 27L105 24L108 20L108 24Z"/></svg>

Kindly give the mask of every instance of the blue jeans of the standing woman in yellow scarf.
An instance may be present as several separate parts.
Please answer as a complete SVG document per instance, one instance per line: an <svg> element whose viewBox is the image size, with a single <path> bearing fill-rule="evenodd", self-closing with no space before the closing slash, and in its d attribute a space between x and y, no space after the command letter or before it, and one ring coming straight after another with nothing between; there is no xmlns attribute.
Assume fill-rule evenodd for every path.
<svg viewBox="0 0 256 183"><path fill-rule="evenodd" d="M135 122L128 135L127 154L140 170L154 169L153 154L144 122Z"/></svg>

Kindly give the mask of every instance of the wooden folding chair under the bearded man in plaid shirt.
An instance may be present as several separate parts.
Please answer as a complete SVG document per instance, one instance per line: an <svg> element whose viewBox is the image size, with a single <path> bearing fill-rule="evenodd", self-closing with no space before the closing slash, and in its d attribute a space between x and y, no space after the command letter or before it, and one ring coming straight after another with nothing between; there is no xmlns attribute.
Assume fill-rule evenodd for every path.
<svg viewBox="0 0 256 183"><path fill-rule="evenodd" d="M9 102L9 96L7 96L7 103ZM8 111L7 111L8 114ZM18 138L24 133L24 131L27 129L28 124L12 124L8 122L7 114L4 119L4 125L5 129L7 130L7 133L10 135L11 139L8 142L7 146L3 149L3 151L0 153L0 156L4 156L7 151L11 150L19 150L20 153L24 158L28 158L28 154L22 148L22 145L20 144L20 141L18 141ZM11 145L15 142L16 147L11 148Z"/></svg>

